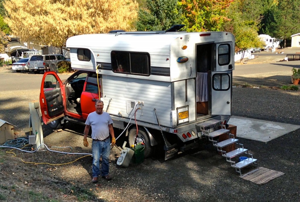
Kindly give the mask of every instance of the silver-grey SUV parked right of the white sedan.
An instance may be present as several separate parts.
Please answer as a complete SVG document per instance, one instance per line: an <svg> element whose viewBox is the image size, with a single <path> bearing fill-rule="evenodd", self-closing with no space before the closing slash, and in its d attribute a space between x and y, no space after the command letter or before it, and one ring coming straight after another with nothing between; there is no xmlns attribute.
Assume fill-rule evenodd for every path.
<svg viewBox="0 0 300 202"><path fill-rule="evenodd" d="M31 69L35 74L38 74L41 70L48 71L51 70L51 68L57 67L57 64L62 61L70 62L70 59L59 54L34 55L31 56L28 61L28 69Z"/></svg>

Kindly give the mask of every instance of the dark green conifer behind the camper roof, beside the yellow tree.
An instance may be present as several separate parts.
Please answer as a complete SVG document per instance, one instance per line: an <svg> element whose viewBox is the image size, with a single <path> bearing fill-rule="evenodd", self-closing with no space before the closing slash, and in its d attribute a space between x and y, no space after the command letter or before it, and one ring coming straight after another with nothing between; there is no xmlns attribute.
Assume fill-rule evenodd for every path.
<svg viewBox="0 0 300 202"><path fill-rule="evenodd" d="M181 10L177 0L146 0L146 7L140 7L135 27L140 31L167 30L174 24L181 24Z"/></svg>

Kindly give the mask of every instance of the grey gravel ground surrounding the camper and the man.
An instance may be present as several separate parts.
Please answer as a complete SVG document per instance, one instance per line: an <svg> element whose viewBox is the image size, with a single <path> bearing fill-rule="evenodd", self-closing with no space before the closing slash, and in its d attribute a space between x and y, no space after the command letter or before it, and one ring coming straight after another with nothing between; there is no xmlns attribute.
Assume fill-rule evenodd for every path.
<svg viewBox="0 0 300 202"><path fill-rule="evenodd" d="M7 72L10 70L1 69L0 74ZM300 125L299 91L235 87L232 93L234 116ZM28 102L38 96L39 90L1 92L0 117L16 123L18 136L29 134ZM43 125L46 145L71 146L71 152L90 153L90 147L82 146L84 128L73 124L67 128L55 133ZM119 131L115 132L118 134ZM175 159L163 161L161 156L155 156L145 159L142 164L130 164L128 168L116 166L116 155L120 151L113 147L110 155L113 180L100 179L97 184L91 183L91 157L65 165L25 164L21 158L23 161L61 164L79 156L16 151L16 157L5 155L9 163L0 164L0 185L14 184L22 193L41 191L57 201L80 201L78 195L83 196L83 190L88 190L90 197L85 201L294 202L300 197L299 133L300 130L296 130L268 143L239 138L259 160L259 166L285 173L263 185L241 179L215 148L205 143ZM117 145L122 146L124 140L124 137L117 140ZM58 150L70 152L70 148ZM3 188L2 191L9 192ZM11 190L7 195L6 201L29 201Z"/></svg>

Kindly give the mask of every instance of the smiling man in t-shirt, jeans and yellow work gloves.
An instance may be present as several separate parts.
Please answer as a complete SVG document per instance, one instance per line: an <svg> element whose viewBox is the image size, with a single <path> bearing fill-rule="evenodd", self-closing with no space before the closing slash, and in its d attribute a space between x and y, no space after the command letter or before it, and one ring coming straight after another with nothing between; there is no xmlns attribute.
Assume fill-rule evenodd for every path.
<svg viewBox="0 0 300 202"><path fill-rule="evenodd" d="M102 178L111 180L109 173L109 155L110 155L110 136L112 136L112 145L116 144L116 138L113 131L113 120L109 113L103 111L103 101L97 100L95 102L96 111L90 113L85 121L83 145L88 146L86 140L88 131L92 127L91 138L92 154L93 154L93 179L92 182L98 182L98 176L101 174ZM100 170L100 156L102 156L101 170Z"/></svg>

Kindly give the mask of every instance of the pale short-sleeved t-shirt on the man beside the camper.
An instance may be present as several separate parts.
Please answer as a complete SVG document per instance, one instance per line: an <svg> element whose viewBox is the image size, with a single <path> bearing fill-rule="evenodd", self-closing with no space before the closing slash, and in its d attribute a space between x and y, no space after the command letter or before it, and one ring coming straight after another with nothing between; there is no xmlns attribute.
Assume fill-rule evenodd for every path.
<svg viewBox="0 0 300 202"><path fill-rule="evenodd" d="M109 113L97 114L96 111L90 113L85 121L85 125L92 127L91 137L96 140L104 140L110 135L108 125L112 123Z"/></svg>

